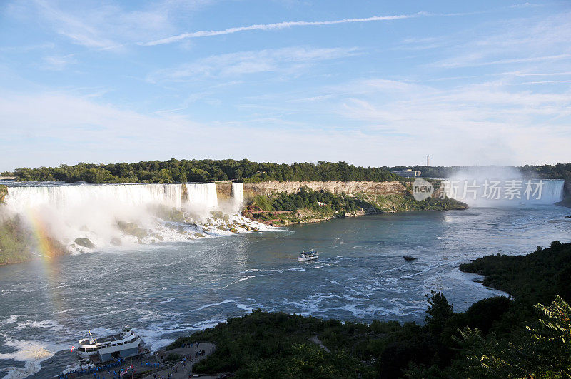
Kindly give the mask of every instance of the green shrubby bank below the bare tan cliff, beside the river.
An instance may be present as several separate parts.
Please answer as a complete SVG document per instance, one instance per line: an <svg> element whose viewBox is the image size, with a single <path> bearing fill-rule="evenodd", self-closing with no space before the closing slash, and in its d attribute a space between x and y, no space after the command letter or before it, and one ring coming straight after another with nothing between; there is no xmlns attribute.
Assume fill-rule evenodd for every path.
<svg viewBox="0 0 571 379"><path fill-rule="evenodd" d="M333 195L328 191L313 191L303 187L298 193L255 196L243 215L256 221L281 226L367 213L447 211L466 208L468 206L464 203L450 198L416 201L409 192L386 195L373 193Z"/></svg>

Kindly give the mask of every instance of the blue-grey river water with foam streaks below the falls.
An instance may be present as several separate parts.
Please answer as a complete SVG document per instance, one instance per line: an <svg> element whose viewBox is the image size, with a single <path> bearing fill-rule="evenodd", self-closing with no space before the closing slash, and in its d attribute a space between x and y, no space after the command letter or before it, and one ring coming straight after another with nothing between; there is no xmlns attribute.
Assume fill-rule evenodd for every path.
<svg viewBox="0 0 571 379"><path fill-rule="evenodd" d="M382 214L0 267L0 375L61 373L87 330L130 325L156 349L256 308L422 323L430 290L456 311L501 294L459 263L568 242L569 214L560 206ZM308 248L318 261L296 261Z"/></svg>

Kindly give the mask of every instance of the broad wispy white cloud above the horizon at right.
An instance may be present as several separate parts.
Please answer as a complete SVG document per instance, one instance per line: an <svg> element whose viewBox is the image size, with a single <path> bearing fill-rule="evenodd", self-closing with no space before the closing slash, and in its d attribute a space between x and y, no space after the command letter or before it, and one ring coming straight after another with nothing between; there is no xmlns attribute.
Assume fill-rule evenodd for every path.
<svg viewBox="0 0 571 379"><path fill-rule="evenodd" d="M449 164L565 161L563 146L571 143L571 91L522 89L512 86L510 78L517 81L506 74L495 81L456 83L446 89L362 79L295 91L287 98L284 94L263 101L256 98L252 110L268 118L293 114L328 128L342 126L347 132L364 133L370 145L378 146L380 157L399 156L396 161L407 161L406 154L414 151ZM263 103L266 111L256 108L256 103Z"/></svg>

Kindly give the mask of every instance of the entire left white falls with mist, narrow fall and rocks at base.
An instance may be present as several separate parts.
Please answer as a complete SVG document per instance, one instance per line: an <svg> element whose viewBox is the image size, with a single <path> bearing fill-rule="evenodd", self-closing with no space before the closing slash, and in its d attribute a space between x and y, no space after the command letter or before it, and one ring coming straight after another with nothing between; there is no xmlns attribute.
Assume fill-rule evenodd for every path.
<svg viewBox="0 0 571 379"><path fill-rule="evenodd" d="M72 251L258 230L240 216L243 183L218 201L214 183L13 186L9 213ZM37 233L36 233L37 234Z"/></svg>

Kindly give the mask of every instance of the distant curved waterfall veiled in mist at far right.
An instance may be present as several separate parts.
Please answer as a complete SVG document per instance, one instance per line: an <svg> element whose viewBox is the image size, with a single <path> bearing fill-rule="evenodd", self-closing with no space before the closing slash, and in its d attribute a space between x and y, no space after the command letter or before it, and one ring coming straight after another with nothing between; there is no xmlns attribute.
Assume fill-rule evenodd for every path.
<svg viewBox="0 0 571 379"><path fill-rule="evenodd" d="M443 181L446 196L469 206L505 207L554 204L563 199L564 180L465 179ZM495 185L495 188L492 187Z"/></svg>

